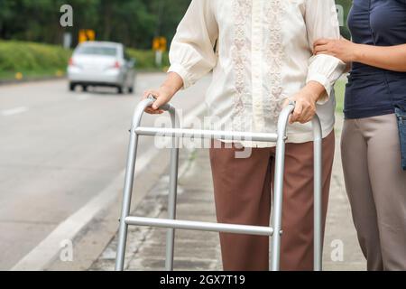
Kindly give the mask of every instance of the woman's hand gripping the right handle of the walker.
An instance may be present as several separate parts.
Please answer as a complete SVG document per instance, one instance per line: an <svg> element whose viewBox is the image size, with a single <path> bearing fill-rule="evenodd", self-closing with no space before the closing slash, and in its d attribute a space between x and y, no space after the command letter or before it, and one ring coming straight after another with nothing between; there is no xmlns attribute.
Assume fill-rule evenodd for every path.
<svg viewBox="0 0 406 289"><path fill-rule="evenodd" d="M290 124L299 122L306 124L316 115L316 103L326 93L326 89L316 81L310 81L293 98L288 99L296 102L295 110L289 118Z"/></svg>

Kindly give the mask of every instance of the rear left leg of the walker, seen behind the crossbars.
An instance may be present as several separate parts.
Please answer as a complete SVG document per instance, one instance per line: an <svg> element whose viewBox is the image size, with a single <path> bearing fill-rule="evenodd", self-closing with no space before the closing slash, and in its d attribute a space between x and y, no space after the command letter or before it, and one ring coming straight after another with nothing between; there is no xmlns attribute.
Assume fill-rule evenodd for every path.
<svg viewBox="0 0 406 289"><path fill-rule="evenodd" d="M171 113L173 126L178 126L176 114ZM168 199L168 219L176 219L176 202L178 195L178 172L179 172L179 138L172 138L171 164L170 164L170 191ZM173 258L175 250L175 229L168 228L166 234L166 271L173 271Z"/></svg>

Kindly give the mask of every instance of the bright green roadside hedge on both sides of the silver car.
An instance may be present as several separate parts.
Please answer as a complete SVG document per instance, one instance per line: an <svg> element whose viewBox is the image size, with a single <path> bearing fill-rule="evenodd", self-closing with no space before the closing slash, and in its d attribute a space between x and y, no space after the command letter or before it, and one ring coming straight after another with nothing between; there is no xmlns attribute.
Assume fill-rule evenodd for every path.
<svg viewBox="0 0 406 289"><path fill-rule="evenodd" d="M58 45L0 40L0 80L63 76L71 54ZM162 70L155 65L153 51L129 49L128 54L139 70ZM169 66L168 53L164 53L162 65Z"/></svg>

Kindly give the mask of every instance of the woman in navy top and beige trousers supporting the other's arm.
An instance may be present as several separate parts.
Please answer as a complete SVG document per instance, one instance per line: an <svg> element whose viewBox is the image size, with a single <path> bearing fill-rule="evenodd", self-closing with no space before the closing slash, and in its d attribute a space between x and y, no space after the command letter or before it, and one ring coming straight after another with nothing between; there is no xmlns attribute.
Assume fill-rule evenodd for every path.
<svg viewBox="0 0 406 289"><path fill-rule="evenodd" d="M368 270L404 271L406 0L355 0L348 25L354 42L315 43L318 55L353 63L342 135L346 191Z"/></svg>

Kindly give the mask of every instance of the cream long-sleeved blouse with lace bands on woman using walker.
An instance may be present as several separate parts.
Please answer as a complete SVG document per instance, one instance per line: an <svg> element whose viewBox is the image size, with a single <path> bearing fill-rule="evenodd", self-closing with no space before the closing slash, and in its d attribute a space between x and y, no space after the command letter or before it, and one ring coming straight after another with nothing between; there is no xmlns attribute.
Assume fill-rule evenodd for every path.
<svg viewBox="0 0 406 289"><path fill-rule="evenodd" d="M333 86L346 65L313 56L312 47L339 37L333 0L192 0L171 43L169 71L187 89L213 70L206 102L214 128L256 133L276 132L284 100L318 81L328 92L318 103L327 136L335 124ZM311 124L288 128L288 142L312 138Z"/></svg>

